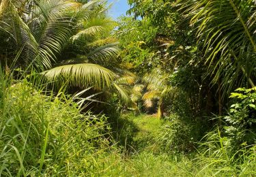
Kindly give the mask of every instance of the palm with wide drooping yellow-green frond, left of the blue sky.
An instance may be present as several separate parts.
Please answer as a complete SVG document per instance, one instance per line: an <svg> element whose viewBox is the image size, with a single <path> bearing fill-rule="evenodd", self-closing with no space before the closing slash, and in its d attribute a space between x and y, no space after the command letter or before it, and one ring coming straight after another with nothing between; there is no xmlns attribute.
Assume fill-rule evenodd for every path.
<svg viewBox="0 0 256 177"><path fill-rule="evenodd" d="M42 74L55 86L92 86L96 91L115 90L128 103L128 93L118 81L123 72L117 68L119 48L111 36L115 22L106 17L105 8L91 10L86 18L76 23L74 35L53 68ZM57 81L57 82L56 82Z"/></svg>

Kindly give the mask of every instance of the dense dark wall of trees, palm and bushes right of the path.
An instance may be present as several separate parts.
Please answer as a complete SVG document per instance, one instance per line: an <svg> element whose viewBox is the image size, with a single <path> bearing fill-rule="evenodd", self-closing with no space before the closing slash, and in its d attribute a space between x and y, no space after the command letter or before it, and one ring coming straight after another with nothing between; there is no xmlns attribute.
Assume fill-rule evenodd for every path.
<svg viewBox="0 0 256 177"><path fill-rule="evenodd" d="M217 141L213 156L223 148L236 161L255 144L255 2L128 3L116 31L122 63L141 76L144 106L169 121L160 146L190 152Z"/></svg>

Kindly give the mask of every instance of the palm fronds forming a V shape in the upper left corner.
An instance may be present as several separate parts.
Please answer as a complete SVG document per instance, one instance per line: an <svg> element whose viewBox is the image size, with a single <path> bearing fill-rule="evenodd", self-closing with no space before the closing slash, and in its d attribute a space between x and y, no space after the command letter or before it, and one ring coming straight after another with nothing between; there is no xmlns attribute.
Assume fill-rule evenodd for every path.
<svg viewBox="0 0 256 177"><path fill-rule="evenodd" d="M16 63L23 68L33 63L34 67L46 69L51 68L72 32L70 25L81 4L64 0L3 0L0 7L1 29L9 34L6 40L20 52Z"/></svg>

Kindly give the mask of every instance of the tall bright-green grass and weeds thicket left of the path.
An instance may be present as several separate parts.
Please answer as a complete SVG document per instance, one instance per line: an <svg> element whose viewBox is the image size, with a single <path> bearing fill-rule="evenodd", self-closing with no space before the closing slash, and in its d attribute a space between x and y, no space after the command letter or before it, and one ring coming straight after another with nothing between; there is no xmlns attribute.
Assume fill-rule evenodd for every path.
<svg viewBox="0 0 256 177"><path fill-rule="evenodd" d="M35 90L3 71L0 100L0 176L104 172L107 153L115 152L105 116L81 114L72 97Z"/></svg>

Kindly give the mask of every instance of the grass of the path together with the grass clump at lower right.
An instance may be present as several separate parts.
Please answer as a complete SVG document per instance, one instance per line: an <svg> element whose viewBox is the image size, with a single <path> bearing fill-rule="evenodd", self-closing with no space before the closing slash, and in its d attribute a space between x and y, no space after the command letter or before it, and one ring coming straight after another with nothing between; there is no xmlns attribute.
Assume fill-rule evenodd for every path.
<svg viewBox="0 0 256 177"><path fill-rule="evenodd" d="M241 158L236 159L240 163L233 163L231 158L225 156L221 148L222 140L218 137L216 142L201 143L198 152L167 152L156 143L166 129L165 125L168 125L167 120L130 113L123 114L120 121L123 124L119 133L131 136L132 151L125 153L125 161L120 161L126 176L254 176L256 173L253 152L256 147L245 150ZM128 127L135 127L136 131L129 131L132 129Z"/></svg>

